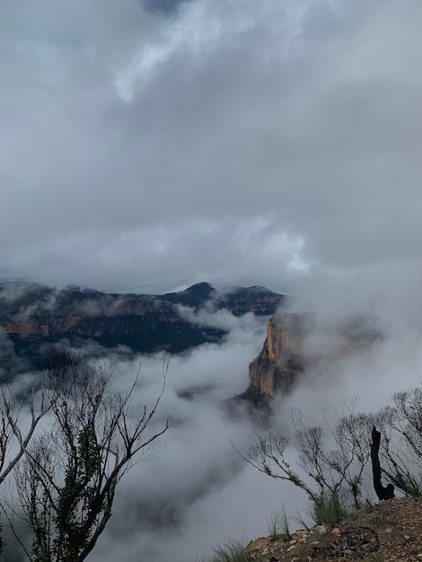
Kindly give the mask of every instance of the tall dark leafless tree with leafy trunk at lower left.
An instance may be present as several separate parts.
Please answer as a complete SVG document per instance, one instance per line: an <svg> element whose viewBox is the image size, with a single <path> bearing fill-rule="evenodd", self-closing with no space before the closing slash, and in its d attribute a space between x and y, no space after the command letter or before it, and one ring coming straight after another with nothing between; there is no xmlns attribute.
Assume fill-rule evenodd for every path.
<svg viewBox="0 0 422 562"><path fill-rule="evenodd" d="M163 389L168 363L164 364ZM136 377L137 380L137 377ZM26 448L15 471L31 548L15 536L31 562L81 562L94 548L112 514L116 486L134 462L151 457L150 422L163 396L134 419L127 394L110 389L106 364L89 364L56 350L48 364L50 429Z"/></svg>

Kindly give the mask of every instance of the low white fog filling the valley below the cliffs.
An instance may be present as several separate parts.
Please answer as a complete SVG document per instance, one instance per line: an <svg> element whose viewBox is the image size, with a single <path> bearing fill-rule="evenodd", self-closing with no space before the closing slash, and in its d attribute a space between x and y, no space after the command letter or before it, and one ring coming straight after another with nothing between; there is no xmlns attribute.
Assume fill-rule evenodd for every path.
<svg viewBox="0 0 422 562"><path fill-rule="evenodd" d="M339 410L342 400L358 396L358 409L374 411L393 391L419 382L420 328L409 320L415 317L409 307L397 300L382 306L349 300L343 316L335 295L331 297L333 306L325 311L318 299L319 305L313 307L310 301L292 303L293 309L306 306L314 314L314 329L305 343L310 355L315 349L329 351L337 343L337 328L346 312L350 318L366 314L365 327L378 337L346 356L310 364L295 391L273 401L272 428L290 431L287 406L301 408L307 422L321 424L321 408ZM89 557L92 562L195 562L209 558L212 547L228 538L267 535L268 521L282 503L289 514L306 513L306 497L300 490L254 470L231 443L247 452L256 440L254 430L259 431L259 417L252 419L245 404L227 399L245 390L248 365L262 347L267 319L252 314L235 318L228 312L202 312L197 318L224 326L229 335L221 345L207 344L170 357L163 399L151 425L158 429L168 419L170 429L157 443L154 459L139 462L121 481L113 516ZM86 351L99 355L98 347ZM128 391L142 363L133 395L134 415L154 403L163 383L163 355L104 351L115 363L113 384L122 391ZM295 453L291 455L294 461ZM368 475L366 486L371 495Z"/></svg>

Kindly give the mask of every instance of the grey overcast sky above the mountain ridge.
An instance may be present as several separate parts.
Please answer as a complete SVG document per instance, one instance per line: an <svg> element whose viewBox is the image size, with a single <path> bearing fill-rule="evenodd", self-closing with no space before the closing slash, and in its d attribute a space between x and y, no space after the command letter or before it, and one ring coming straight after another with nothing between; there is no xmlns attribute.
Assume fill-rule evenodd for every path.
<svg viewBox="0 0 422 562"><path fill-rule="evenodd" d="M418 279L421 18L419 0L0 1L0 277Z"/></svg>

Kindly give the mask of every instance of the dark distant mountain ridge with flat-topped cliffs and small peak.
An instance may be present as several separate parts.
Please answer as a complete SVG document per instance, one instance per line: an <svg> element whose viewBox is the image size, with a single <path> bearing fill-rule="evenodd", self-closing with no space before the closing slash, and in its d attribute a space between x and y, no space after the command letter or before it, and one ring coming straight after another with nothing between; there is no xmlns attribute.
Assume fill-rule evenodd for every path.
<svg viewBox="0 0 422 562"><path fill-rule="evenodd" d="M171 353L219 341L224 330L184 318L181 307L198 312L227 310L272 315L284 295L265 287L237 287L219 293L208 283L167 294L109 294L70 285L0 283L0 329L21 354L57 343L92 340L105 347L127 346L142 353Z"/></svg>

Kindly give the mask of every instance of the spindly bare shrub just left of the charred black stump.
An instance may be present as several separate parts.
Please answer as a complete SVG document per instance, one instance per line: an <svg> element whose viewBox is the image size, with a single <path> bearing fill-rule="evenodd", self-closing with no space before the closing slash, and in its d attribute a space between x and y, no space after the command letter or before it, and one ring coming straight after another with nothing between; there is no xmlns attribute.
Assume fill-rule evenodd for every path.
<svg viewBox="0 0 422 562"><path fill-rule="evenodd" d="M321 412L323 426L305 426L299 410L291 409L294 438L279 433L260 436L258 443L242 455L254 468L274 479L300 487L317 505L321 498L338 496L346 489L354 505L361 504L361 485L369 457L367 440L371 420L355 413L356 402L347 415L338 416L334 428ZM289 461L289 445L295 461Z"/></svg>

